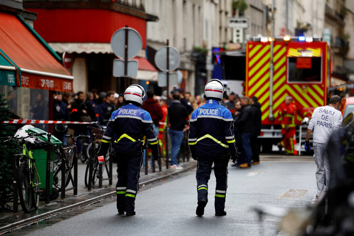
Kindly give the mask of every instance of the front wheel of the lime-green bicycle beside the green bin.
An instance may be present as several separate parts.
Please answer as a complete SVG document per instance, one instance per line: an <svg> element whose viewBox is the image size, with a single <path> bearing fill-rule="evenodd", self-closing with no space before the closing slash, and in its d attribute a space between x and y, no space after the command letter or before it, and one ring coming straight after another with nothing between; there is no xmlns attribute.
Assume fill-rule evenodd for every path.
<svg viewBox="0 0 354 236"><path fill-rule="evenodd" d="M21 207L25 213L29 213L33 203L33 190L31 185L30 173L28 166L20 165L18 168L18 195Z"/></svg>

